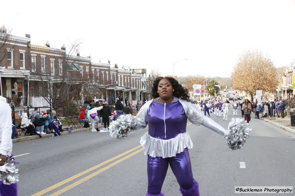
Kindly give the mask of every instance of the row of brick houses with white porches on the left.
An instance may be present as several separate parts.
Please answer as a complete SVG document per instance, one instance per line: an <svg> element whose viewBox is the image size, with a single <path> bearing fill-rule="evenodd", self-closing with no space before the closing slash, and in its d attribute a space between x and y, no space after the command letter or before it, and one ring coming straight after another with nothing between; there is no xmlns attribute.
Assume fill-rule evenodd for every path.
<svg viewBox="0 0 295 196"><path fill-rule="evenodd" d="M4 26L1 33L5 33ZM62 76L66 76L67 83L73 83L72 93L82 101L112 100L121 96L135 105L150 99L146 69L119 69L116 64L111 67L101 61L94 63L90 55L82 57L78 50L74 55L68 55L65 45L51 48L48 41L44 46L33 45L27 34L25 37L10 35L5 51L7 54L0 68L1 95L18 105L49 105L46 100L50 99L47 97L50 92L64 91L62 86L53 89L52 85L61 83ZM82 81L83 86L78 88L77 81ZM91 86L97 87L98 91L83 93L83 87ZM68 98L72 100L74 94Z"/></svg>

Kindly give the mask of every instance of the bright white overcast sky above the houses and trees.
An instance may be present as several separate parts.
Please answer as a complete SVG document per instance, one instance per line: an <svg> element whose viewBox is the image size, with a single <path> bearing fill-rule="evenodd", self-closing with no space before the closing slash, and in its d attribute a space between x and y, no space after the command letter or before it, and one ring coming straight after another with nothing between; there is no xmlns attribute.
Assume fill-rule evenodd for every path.
<svg viewBox="0 0 295 196"><path fill-rule="evenodd" d="M13 35L56 48L79 40L80 56L111 67L230 77L249 50L276 67L295 59L294 0L14 0L2 7L0 26Z"/></svg>

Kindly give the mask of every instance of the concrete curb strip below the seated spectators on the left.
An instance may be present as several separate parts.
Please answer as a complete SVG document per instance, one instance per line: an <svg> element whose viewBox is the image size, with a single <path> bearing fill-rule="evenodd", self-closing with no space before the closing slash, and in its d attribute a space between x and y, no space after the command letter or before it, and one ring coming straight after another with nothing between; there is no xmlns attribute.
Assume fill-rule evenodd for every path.
<svg viewBox="0 0 295 196"><path fill-rule="evenodd" d="M99 125L98 128L99 129L100 128L104 128L104 125ZM90 126L89 128L73 129L71 131L71 133L77 133L77 132L81 132L81 131L87 131L87 130L90 130L90 129L92 129L92 126ZM69 134L69 132L68 131L63 131L63 132L60 132L60 134L61 134L60 136L67 135L67 134ZM22 134L21 136L19 136L19 138L13 138L12 139L12 143L24 142L24 141L35 140L35 139L50 138L51 135L53 135L53 133L42 135L42 138L39 138L39 135L23 135ZM60 136L58 136L58 137L60 137ZM55 137L57 137L57 136L55 136Z"/></svg>

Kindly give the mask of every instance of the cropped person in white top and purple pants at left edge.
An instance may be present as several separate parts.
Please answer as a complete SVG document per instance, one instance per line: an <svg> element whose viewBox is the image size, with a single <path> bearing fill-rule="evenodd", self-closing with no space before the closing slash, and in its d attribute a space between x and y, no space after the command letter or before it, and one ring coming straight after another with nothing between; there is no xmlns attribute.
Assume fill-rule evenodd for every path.
<svg viewBox="0 0 295 196"><path fill-rule="evenodd" d="M8 159L11 159L12 155L12 118L10 115L12 111L9 104L6 102L6 98L2 96L0 96L0 111L0 165L4 165ZM7 170L11 173L15 172L15 168L12 167ZM2 180L2 175L4 175L2 174L2 170L0 175ZM5 177L4 179L6 180ZM17 196L17 182L12 182L12 184L9 185L0 181L0 195Z"/></svg>

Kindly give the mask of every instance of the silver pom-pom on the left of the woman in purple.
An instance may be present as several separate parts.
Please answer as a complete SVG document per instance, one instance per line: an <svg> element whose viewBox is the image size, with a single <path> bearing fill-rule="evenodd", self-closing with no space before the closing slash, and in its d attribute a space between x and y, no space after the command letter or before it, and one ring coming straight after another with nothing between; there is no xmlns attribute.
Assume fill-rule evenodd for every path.
<svg viewBox="0 0 295 196"><path fill-rule="evenodd" d="M113 138L124 139L127 133L136 130L136 117L131 114L121 115L109 125L110 135Z"/></svg>

